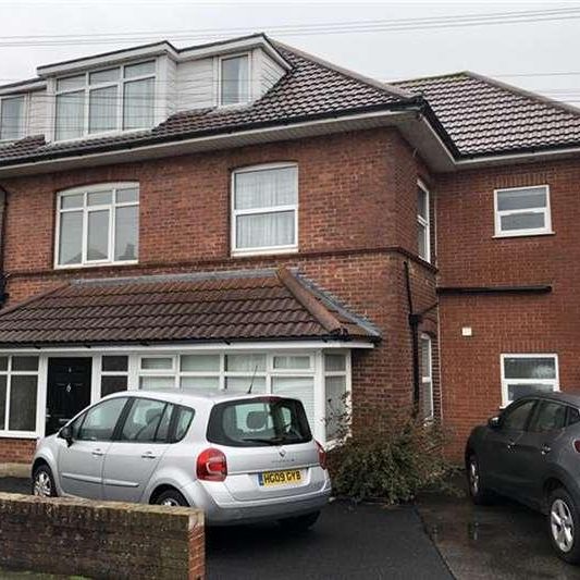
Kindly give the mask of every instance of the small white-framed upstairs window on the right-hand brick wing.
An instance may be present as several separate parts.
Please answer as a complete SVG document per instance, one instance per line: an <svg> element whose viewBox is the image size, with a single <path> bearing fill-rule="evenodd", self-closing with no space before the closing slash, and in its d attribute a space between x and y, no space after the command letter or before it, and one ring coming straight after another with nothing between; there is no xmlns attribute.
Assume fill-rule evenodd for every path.
<svg viewBox="0 0 580 580"><path fill-rule="evenodd" d="M495 190L496 236L550 233L552 233L552 218L547 185Z"/></svg>

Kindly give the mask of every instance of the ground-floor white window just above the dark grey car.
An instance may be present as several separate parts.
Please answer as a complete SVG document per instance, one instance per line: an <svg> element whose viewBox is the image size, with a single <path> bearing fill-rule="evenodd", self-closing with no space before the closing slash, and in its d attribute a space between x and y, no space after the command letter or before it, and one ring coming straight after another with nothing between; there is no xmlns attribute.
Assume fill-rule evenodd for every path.
<svg viewBox="0 0 580 580"><path fill-rule="evenodd" d="M558 390L556 355L502 355L504 405L526 395Z"/></svg>

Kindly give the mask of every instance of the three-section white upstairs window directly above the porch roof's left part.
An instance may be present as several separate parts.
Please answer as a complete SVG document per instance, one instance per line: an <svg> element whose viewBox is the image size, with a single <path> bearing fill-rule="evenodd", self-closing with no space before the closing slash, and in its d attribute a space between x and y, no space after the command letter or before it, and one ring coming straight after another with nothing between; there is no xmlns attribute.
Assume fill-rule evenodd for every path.
<svg viewBox="0 0 580 580"><path fill-rule="evenodd" d="M134 183L59 194L57 267L136 262L139 187Z"/></svg>

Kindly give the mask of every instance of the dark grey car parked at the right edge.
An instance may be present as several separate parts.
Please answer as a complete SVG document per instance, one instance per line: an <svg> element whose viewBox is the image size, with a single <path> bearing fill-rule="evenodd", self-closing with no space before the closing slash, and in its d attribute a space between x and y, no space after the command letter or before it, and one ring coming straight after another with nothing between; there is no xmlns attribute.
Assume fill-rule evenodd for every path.
<svg viewBox="0 0 580 580"><path fill-rule="evenodd" d="M516 400L473 429L465 459L476 504L495 492L546 514L558 555L580 562L580 393Z"/></svg>

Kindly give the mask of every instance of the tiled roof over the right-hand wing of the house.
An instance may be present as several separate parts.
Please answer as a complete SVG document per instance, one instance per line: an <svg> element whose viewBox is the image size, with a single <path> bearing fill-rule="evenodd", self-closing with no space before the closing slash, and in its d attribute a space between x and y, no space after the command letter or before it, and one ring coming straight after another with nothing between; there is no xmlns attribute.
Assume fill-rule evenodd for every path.
<svg viewBox="0 0 580 580"><path fill-rule="evenodd" d="M461 156L580 145L580 110L474 73L394 83L422 95Z"/></svg>

